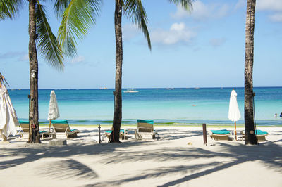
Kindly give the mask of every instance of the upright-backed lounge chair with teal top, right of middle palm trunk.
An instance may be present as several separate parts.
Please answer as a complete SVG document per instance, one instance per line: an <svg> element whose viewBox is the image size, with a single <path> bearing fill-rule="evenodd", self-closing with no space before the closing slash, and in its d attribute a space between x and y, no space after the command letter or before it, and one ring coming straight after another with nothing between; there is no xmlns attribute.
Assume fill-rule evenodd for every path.
<svg viewBox="0 0 282 187"><path fill-rule="evenodd" d="M153 120L137 120L137 138L156 138L157 132L154 131Z"/></svg>

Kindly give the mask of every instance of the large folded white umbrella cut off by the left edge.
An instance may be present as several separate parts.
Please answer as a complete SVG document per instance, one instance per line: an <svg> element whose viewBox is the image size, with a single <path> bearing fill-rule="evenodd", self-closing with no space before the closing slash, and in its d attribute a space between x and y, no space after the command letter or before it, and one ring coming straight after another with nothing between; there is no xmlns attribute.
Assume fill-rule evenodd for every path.
<svg viewBox="0 0 282 187"><path fill-rule="evenodd" d="M1 75L0 75L0 78ZM9 134L15 135L17 133L16 126L19 125L16 110L13 108L11 98L3 79L0 79L0 134L7 141Z"/></svg>

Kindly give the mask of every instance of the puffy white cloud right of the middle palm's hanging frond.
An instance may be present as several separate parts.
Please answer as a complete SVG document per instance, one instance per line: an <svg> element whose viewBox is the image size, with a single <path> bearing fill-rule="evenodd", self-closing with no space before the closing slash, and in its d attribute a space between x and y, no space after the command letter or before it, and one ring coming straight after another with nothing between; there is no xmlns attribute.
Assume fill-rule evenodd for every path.
<svg viewBox="0 0 282 187"><path fill-rule="evenodd" d="M154 30L151 34L152 42L157 44L172 45L178 43L189 43L196 34L188 29L183 22L173 23L171 28L166 30Z"/></svg>

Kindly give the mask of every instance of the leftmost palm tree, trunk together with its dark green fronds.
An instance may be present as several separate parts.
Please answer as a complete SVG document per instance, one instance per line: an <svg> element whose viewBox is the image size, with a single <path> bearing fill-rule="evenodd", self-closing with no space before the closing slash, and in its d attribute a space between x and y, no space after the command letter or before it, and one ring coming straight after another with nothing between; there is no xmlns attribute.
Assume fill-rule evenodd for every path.
<svg viewBox="0 0 282 187"><path fill-rule="evenodd" d="M23 4L23 0L7 0L0 4L0 10L5 11L3 15L11 18L18 11L18 7ZM51 31L51 27L45 15L44 6L39 0L29 0L29 59L30 59L30 134L28 142L40 143L39 137L39 113L38 113L38 60L37 46L42 56L47 62L59 70L63 70L63 52L59 48L59 44L55 35ZM5 18L3 16L3 18ZM37 44L36 44L37 40Z"/></svg>

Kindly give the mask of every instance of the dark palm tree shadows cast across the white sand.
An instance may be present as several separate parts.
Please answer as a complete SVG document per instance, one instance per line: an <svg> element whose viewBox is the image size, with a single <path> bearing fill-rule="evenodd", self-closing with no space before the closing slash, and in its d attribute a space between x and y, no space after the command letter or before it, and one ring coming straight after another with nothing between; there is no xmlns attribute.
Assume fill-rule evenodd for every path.
<svg viewBox="0 0 282 187"><path fill-rule="evenodd" d="M173 133L173 134L172 134ZM282 135L281 131L276 131L277 134ZM1 148L1 157L11 157L11 160L4 160L0 162L0 171L22 165L27 162L36 162L42 158L51 159L49 164L44 167L48 171L48 177L60 177L63 179L78 178L78 179L97 179L99 174L94 172L93 169L87 167L82 162L75 160L75 157L96 155L99 156L99 162L108 165L111 163L128 163L152 160L158 162L166 162L170 160L180 160L181 165L171 167L152 168L142 171L135 176L124 176L123 179L114 179L113 181L102 181L97 183L89 183L88 186L118 186L128 183L130 181L138 181L147 178L154 178L158 176L173 175L181 172L186 175L180 179L161 183L160 186L173 186L180 183L197 179L200 176L212 174L214 172L239 165L243 162L261 161L266 167L278 169L282 172L282 148L276 142L264 142L259 146L245 146L240 143L216 143L216 146L221 146L221 153L215 150L207 150L207 147L165 147L168 141L180 138L188 138L192 136L199 136L201 131L190 131L189 134L185 132L175 133L169 129L159 131L162 134L161 141L128 141L125 143L104 143L104 144L87 144L78 143L71 146L53 147L47 145L27 145L23 148ZM166 136L167 134L167 136ZM162 148L154 150L142 151L138 146L146 146L152 143L162 145ZM264 150L264 151L262 151ZM20 155L21 157L16 157ZM13 158L16 157L16 158ZM71 158L72 157L72 158ZM208 164L191 165L190 160L209 159L212 157L222 158L221 162L214 162L211 160ZM231 158L228 161L224 159ZM54 161L52 161L54 160ZM232 160L232 161L230 161ZM93 161L94 162L94 161ZM58 167L59 166L59 167ZM187 172L190 171L190 172ZM59 176L56 176L60 173ZM189 174L188 174L189 173ZM45 174L42 172L39 174Z"/></svg>

